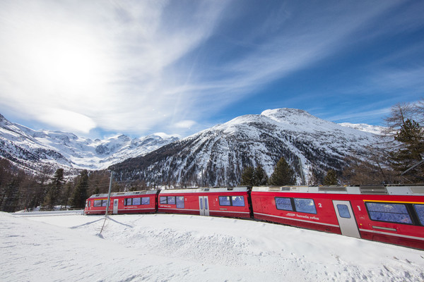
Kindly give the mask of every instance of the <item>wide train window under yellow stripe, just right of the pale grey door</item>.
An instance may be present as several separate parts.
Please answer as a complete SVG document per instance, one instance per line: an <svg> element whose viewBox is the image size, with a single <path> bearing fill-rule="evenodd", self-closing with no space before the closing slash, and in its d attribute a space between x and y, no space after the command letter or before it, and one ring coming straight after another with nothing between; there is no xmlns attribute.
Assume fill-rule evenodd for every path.
<svg viewBox="0 0 424 282"><path fill-rule="evenodd" d="M365 206L371 220L412 224L406 204L366 202Z"/></svg>

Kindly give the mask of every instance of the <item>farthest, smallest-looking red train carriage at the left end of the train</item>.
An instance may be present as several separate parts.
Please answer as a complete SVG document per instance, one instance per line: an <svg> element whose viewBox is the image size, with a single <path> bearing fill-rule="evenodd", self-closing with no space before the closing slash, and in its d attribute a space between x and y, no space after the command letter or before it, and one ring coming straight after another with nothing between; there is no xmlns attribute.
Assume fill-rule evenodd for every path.
<svg viewBox="0 0 424 282"><path fill-rule="evenodd" d="M110 194L110 214L141 214L156 212L158 190L113 192ZM87 199L85 214L105 214L107 194L92 195Z"/></svg>

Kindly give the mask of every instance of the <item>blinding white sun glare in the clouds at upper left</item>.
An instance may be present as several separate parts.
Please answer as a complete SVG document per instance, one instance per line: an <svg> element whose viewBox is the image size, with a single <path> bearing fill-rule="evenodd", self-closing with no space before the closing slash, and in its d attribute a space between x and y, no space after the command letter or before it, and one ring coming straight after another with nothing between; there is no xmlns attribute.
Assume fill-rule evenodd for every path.
<svg viewBox="0 0 424 282"><path fill-rule="evenodd" d="M104 62L98 46L84 35L37 37L28 47L28 68L37 84L67 94L86 94L97 86Z"/></svg>

